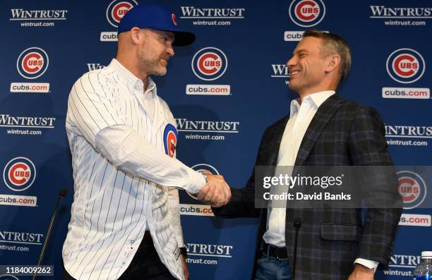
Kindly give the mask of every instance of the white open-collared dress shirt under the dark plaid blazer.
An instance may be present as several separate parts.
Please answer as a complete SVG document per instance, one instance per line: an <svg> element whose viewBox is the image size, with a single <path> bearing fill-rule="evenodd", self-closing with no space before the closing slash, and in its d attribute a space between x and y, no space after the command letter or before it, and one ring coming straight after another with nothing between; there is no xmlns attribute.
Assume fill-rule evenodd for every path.
<svg viewBox="0 0 432 280"><path fill-rule="evenodd" d="M316 92L304 97L301 104L299 104L299 99L292 100L289 120L285 126L284 134L280 142L277 166L294 166L301 140L303 140L304 134L313 116L315 116L320 105L334 94L335 91L333 90ZM272 190L272 192L281 191L287 190ZM284 202L286 203L286 201ZM267 231L264 233L263 239L265 243L283 248L285 247L285 217L287 209L281 206L282 205L278 204L277 207L272 208L271 204L269 205ZM378 266L378 262L360 258L357 258L354 262L363 264L369 268L376 268Z"/></svg>

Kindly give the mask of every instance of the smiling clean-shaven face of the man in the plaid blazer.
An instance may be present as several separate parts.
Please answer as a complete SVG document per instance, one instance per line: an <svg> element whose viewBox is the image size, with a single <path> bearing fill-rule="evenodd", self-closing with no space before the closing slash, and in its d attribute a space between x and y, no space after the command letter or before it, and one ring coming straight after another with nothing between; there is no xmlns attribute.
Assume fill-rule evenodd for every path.
<svg viewBox="0 0 432 280"><path fill-rule="evenodd" d="M287 62L289 74L289 88L301 96L328 90L323 87L328 63L320 49L323 39L304 37L294 49L293 56Z"/></svg>

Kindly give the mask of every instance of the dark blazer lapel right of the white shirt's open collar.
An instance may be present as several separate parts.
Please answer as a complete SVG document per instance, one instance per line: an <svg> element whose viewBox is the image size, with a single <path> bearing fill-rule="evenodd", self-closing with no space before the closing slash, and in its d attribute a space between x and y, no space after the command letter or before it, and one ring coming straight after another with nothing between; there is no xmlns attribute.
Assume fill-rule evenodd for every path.
<svg viewBox="0 0 432 280"><path fill-rule="evenodd" d="M316 140L321 134L321 131L342 103L343 100L340 99L340 97L332 95L318 108L318 111L316 111L315 116L313 116L313 119L304 134L303 140L301 140L299 152L297 153L296 162L294 164L295 166L301 166L304 164L313 148L313 145L315 145Z"/></svg>

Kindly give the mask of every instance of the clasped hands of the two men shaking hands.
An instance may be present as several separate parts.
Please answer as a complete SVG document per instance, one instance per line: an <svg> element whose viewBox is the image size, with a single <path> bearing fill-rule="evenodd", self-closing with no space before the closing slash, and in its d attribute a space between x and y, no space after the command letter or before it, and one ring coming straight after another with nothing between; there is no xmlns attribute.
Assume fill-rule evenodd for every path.
<svg viewBox="0 0 432 280"><path fill-rule="evenodd" d="M231 190L224 177L205 173L207 183L200 190L198 200L201 200L212 207L222 207L231 199Z"/></svg>

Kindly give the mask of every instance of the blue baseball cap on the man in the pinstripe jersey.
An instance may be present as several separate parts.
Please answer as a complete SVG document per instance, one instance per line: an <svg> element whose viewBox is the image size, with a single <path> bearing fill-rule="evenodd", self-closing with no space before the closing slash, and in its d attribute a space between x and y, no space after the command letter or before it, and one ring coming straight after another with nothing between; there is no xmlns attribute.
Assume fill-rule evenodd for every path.
<svg viewBox="0 0 432 280"><path fill-rule="evenodd" d="M192 32L178 28L176 16L172 11L157 4L139 4L131 8L119 23L117 33L126 32L134 27L151 28L174 32L174 46L186 46L195 41L195 35Z"/></svg>

